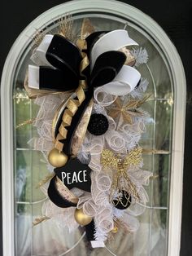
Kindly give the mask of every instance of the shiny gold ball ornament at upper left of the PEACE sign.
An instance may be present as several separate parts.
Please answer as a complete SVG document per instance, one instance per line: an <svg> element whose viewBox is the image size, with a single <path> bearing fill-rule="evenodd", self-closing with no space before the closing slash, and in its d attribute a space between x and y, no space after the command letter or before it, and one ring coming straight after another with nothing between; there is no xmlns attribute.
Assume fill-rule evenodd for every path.
<svg viewBox="0 0 192 256"><path fill-rule="evenodd" d="M62 167L67 163L68 156L63 152L59 152L57 148L53 148L49 152L48 161L50 162L51 166Z"/></svg>

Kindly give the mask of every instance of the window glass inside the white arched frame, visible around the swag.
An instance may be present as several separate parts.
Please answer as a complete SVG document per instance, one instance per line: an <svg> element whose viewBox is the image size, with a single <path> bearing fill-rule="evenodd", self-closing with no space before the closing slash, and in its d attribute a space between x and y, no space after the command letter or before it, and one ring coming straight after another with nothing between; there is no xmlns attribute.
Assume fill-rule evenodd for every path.
<svg viewBox="0 0 192 256"><path fill-rule="evenodd" d="M95 18L89 15L98 29L123 29L126 20L103 15ZM82 18L74 17L74 29L80 31ZM56 29L56 23L48 29ZM124 231L111 236L107 248L118 256L147 256L167 254L167 215L168 215L168 185L170 176L171 138L172 138L172 82L164 62L159 46L152 38L139 32L137 28L128 24L126 29L130 37L140 46L146 48L149 62L141 65L139 71L149 82L146 93L151 95L143 104L143 108L150 113L151 122L146 126L146 134L141 140L142 148L153 150L143 155L143 170L150 170L151 178L146 191L149 202L146 211L139 217L140 227L133 234L124 235ZM31 256L59 256L64 252L68 255L111 255L107 249L92 249L83 237L83 229L69 234L67 229L58 227L52 219L33 227L33 220L41 215L41 205L46 196L37 189L37 183L48 174L46 161L41 152L33 151L30 139L37 131L32 126L36 117L37 105L28 99L23 83L26 68L31 60L31 47L25 51L18 66L15 87L13 91L14 120L15 120L15 255ZM28 124L22 125L24 121ZM141 205L142 207L142 205ZM82 240L81 240L82 239ZM81 241L80 241L81 240ZM78 241L80 241L78 243Z"/></svg>

